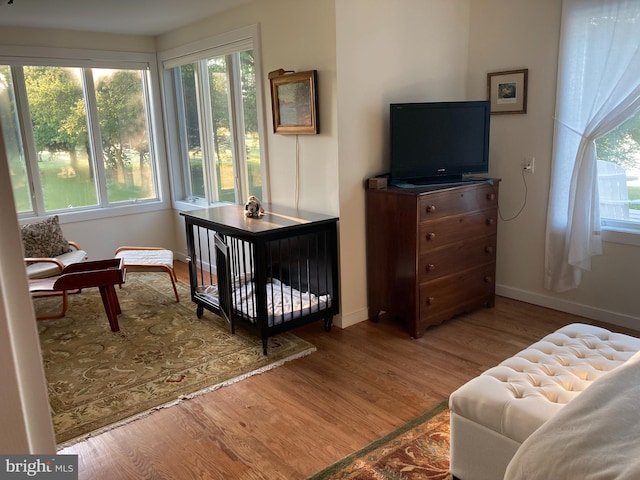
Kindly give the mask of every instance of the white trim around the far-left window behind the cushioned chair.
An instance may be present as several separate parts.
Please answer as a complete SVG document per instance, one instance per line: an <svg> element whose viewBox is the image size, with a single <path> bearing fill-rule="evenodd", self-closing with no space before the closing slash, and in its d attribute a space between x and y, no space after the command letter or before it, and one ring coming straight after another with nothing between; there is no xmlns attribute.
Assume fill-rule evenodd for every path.
<svg viewBox="0 0 640 480"><path fill-rule="evenodd" d="M151 100L150 121L155 138L150 138L149 148L156 153L158 172L158 200L140 204L109 207L87 207L73 211L56 211L60 223L112 218L121 215L147 213L171 208L169 173L165 148L164 124L162 122L161 89L158 76L157 58L153 53L132 53L102 50L81 50L71 48L41 48L23 46L0 46L0 64L85 67L85 68L131 68L149 70L149 96ZM50 213L44 214L44 217ZM19 215L20 222L37 220L33 214Z"/></svg>

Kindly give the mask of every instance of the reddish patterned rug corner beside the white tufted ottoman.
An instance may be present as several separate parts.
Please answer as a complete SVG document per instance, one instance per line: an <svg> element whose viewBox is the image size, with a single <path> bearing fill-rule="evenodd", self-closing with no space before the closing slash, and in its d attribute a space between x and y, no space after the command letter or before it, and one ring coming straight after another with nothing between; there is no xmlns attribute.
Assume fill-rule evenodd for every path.
<svg viewBox="0 0 640 480"><path fill-rule="evenodd" d="M443 402L307 480L451 480Z"/></svg>

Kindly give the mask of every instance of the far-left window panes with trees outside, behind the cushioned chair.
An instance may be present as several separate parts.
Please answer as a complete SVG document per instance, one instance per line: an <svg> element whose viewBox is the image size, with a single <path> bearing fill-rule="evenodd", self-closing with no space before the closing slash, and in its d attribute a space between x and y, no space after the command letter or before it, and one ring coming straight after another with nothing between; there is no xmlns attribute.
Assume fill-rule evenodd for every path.
<svg viewBox="0 0 640 480"><path fill-rule="evenodd" d="M148 65L11 63L0 120L19 215L159 202Z"/></svg>

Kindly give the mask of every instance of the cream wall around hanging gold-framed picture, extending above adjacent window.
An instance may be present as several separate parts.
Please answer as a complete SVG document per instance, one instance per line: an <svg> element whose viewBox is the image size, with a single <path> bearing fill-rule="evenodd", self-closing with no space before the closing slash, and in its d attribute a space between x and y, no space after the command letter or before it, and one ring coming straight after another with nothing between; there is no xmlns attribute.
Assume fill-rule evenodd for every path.
<svg viewBox="0 0 640 480"><path fill-rule="evenodd" d="M267 74L318 71L319 135L299 135L299 203L302 210L337 215L338 155L336 122L335 15L332 0L255 1L158 38L163 51L240 27L259 24L271 202L295 206L296 138L272 133Z"/></svg>

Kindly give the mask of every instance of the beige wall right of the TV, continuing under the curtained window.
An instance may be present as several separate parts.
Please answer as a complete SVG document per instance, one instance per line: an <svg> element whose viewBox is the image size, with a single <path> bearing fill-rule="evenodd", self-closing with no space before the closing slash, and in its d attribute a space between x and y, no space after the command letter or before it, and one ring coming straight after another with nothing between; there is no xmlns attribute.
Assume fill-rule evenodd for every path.
<svg viewBox="0 0 640 480"><path fill-rule="evenodd" d="M517 213L525 197L524 157L536 158L535 173L526 175L524 210L498 226L498 293L639 328L640 247L607 242L580 288L556 294L543 286L560 17L557 0L471 2L469 94L486 91L488 72L529 69L527 113L491 119L491 173L502 178L500 209L505 218Z"/></svg>

